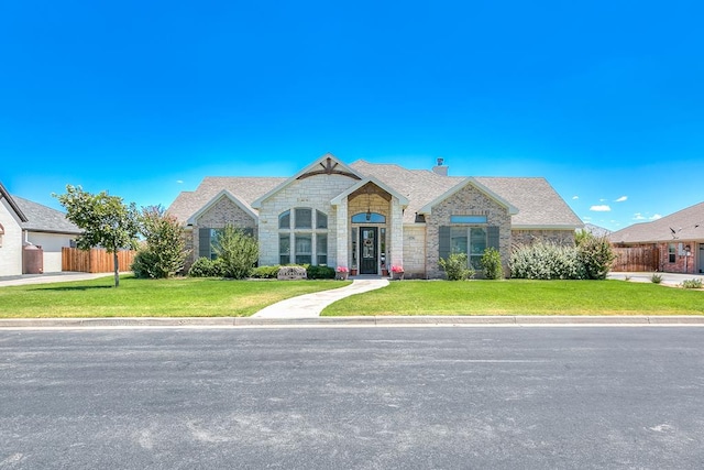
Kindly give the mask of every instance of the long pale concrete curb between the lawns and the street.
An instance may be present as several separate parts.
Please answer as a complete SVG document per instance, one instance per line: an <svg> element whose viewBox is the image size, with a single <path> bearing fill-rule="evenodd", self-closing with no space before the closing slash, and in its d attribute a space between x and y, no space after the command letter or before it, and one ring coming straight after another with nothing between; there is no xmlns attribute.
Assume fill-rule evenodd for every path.
<svg viewBox="0 0 704 470"><path fill-rule="evenodd" d="M462 326L462 325L704 325L696 316L365 316L312 318L3 318L2 328L276 327L276 326Z"/></svg>

